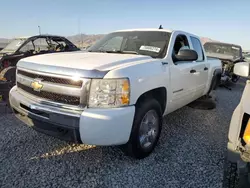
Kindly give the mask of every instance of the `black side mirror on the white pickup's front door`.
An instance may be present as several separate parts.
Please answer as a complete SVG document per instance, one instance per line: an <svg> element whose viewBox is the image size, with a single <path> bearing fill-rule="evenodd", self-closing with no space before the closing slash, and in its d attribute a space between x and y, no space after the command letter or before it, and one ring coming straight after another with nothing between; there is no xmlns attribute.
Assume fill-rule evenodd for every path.
<svg viewBox="0 0 250 188"><path fill-rule="evenodd" d="M174 57L174 61L196 61L198 59L198 54L194 50L182 49Z"/></svg>

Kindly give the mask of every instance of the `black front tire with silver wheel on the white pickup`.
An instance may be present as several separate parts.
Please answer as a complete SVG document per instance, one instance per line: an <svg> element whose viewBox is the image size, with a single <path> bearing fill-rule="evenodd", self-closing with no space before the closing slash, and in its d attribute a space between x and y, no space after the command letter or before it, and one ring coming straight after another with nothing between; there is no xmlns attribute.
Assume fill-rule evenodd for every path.
<svg viewBox="0 0 250 188"><path fill-rule="evenodd" d="M146 121L149 116L154 117L151 119L153 119L155 123L150 123L149 121ZM157 100L146 99L139 102L139 104L136 105L135 117L129 141L126 145L123 146L123 151L125 152L125 154L136 159L143 159L149 156L150 153L154 150L159 140L162 129L162 119L162 109ZM143 122L148 122L148 124L152 125L148 126L147 123ZM150 131L151 128L150 130L148 130L148 127L154 126L155 131ZM143 129L147 130L143 131ZM142 132L146 132L145 134L147 136L144 136L145 134L142 134ZM152 137L153 141L149 137ZM151 140L151 145L149 145L150 141L146 142L145 140ZM142 142L144 141L146 143L142 144Z"/></svg>

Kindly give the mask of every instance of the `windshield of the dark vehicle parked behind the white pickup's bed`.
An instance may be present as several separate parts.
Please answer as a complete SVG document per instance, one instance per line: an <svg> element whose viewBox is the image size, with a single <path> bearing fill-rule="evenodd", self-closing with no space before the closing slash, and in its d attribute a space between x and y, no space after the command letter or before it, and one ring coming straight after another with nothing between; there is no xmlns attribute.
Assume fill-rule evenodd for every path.
<svg viewBox="0 0 250 188"><path fill-rule="evenodd" d="M238 59L241 57L241 48L230 44L219 43L206 43L204 44L207 55L209 54L221 54L224 56L230 56L232 59Z"/></svg>

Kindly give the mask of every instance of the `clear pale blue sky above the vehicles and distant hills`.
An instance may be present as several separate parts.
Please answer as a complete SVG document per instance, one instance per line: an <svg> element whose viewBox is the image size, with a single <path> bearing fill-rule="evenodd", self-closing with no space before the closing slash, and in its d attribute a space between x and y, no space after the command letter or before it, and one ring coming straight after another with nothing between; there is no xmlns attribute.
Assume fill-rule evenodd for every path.
<svg viewBox="0 0 250 188"><path fill-rule="evenodd" d="M2 0L0 38L37 34L38 25L68 36L162 24L250 50L249 10L250 0Z"/></svg>

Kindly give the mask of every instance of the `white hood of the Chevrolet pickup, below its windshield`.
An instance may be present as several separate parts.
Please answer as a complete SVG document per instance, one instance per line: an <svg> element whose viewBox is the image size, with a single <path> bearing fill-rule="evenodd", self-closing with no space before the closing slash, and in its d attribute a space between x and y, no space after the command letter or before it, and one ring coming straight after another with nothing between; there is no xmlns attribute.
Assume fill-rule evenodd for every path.
<svg viewBox="0 0 250 188"><path fill-rule="evenodd" d="M107 73L121 66L153 60L150 56L134 54L63 52L24 58L18 62L17 67L47 73L80 74L86 77L87 71Z"/></svg>

